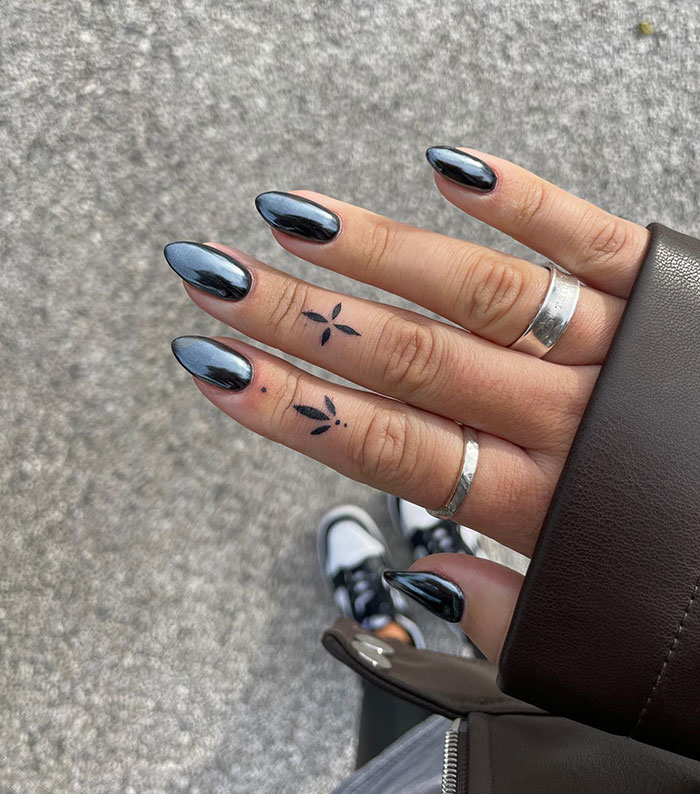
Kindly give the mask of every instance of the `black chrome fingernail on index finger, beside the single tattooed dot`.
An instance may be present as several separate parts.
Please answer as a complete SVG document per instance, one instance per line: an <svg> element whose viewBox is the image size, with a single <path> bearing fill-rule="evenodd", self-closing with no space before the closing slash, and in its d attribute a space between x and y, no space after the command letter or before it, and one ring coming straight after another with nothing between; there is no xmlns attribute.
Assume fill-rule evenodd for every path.
<svg viewBox="0 0 700 794"><path fill-rule="evenodd" d="M191 375L220 389L241 391L253 379L253 367L245 356L206 336L178 336L171 347Z"/></svg>

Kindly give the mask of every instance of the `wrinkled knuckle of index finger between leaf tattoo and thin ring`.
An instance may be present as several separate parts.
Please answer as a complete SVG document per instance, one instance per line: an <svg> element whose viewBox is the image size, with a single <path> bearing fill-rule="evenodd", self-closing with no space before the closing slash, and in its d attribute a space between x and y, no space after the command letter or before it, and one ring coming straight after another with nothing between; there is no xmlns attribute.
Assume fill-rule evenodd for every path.
<svg viewBox="0 0 700 794"><path fill-rule="evenodd" d="M408 417L398 411L377 411L357 447L357 468L369 482L394 484L410 480L417 456L408 443Z"/></svg>

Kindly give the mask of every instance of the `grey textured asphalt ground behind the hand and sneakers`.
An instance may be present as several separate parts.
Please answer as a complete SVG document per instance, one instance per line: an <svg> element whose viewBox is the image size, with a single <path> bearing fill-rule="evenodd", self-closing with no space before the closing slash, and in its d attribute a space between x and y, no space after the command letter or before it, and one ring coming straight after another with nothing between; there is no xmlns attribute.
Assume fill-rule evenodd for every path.
<svg viewBox="0 0 700 794"><path fill-rule="evenodd" d="M223 329L161 248L230 242L374 296L258 218L258 192L305 187L522 253L436 192L440 143L698 234L698 5L5 0L0 792L347 774L357 692L320 649L313 529L344 501L386 528L381 497L199 395L169 341Z"/></svg>

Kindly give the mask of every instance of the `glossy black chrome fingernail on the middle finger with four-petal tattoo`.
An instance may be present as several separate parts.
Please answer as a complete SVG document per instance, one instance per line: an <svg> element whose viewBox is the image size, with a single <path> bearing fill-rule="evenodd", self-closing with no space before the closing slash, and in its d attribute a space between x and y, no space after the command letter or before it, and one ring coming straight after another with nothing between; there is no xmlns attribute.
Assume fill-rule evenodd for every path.
<svg viewBox="0 0 700 794"><path fill-rule="evenodd" d="M250 271L232 256L200 243L168 243L163 249L170 267L197 289L217 298L239 301L250 290Z"/></svg>

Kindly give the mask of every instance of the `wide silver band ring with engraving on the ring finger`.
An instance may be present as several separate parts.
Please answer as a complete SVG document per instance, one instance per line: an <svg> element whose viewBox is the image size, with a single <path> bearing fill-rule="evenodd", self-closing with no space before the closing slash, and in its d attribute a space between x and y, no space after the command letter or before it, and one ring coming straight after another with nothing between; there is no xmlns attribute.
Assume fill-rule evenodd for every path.
<svg viewBox="0 0 700 794"><path fill-rule="evenodd" d="M542 358L561 339L576 311L581 282L551 262L549 286L532 322L510 346L511 350Z"/></svg>

